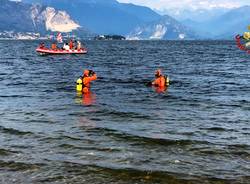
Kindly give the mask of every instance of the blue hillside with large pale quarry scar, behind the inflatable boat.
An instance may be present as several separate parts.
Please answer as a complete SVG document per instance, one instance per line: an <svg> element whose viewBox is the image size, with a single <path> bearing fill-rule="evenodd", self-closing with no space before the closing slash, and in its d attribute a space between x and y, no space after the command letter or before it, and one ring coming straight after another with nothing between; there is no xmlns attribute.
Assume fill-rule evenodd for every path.
<svg viewBox="0 0 250 184"><path fill-rule="evenodd" d="M8 0L0 1L0 31L34 32L45 35L53 31L79 31L89 34L80 28L64 11L42 5L30 5Z"/></svg>

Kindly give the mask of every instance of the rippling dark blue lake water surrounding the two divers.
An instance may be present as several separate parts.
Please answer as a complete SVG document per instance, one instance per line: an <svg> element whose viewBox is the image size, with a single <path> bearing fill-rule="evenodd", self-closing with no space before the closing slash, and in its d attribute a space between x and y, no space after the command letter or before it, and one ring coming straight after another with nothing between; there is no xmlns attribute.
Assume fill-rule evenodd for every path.
<svg viewBox="0 0 250 184"><path fill-rule="evenodd" d="M0 42L0 183L250 183L250 55L227 41ZM75 92L82 69L90 95ZM162 68L165 93L146 87Z"/></svg>

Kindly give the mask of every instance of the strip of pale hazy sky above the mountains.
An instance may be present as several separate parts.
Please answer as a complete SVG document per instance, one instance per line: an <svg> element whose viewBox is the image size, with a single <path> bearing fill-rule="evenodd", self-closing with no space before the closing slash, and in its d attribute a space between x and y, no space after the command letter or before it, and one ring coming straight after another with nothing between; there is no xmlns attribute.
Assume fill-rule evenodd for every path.
<svg viewBox="0 0 250 184"><path fill-rule="evenodd" d="M242 5L250 5L250 0L118 0L119 2L145 5L151 8L163 10L171 8L206 8L215 7L234 8Z"/></svg>

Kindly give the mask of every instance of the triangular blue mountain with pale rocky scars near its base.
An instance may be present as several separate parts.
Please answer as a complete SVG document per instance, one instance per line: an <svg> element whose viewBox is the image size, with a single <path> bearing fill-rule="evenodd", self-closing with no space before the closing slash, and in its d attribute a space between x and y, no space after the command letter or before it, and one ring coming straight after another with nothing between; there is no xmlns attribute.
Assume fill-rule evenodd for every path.
<svg viewBox="0 0 250 184"><path fill-rule="evenodd" d="M143 24L135 28L128 36L128 39L164 39L183 40L196 38L195 33L181 23L171 18L163 16L157 21Z"/></svg>

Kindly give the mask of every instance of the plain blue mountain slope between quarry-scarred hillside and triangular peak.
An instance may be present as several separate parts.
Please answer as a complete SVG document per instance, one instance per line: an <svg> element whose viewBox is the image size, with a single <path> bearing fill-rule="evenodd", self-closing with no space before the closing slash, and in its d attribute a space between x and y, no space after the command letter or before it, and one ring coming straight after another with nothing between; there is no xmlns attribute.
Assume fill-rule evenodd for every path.
<svg viewBox="0 0 250 184"><path fill-rule="evenodd" d="M126 35L139 24L160 18L150 8L116 0L24 0L65 10L79 25L98 34Z"/></svg>

